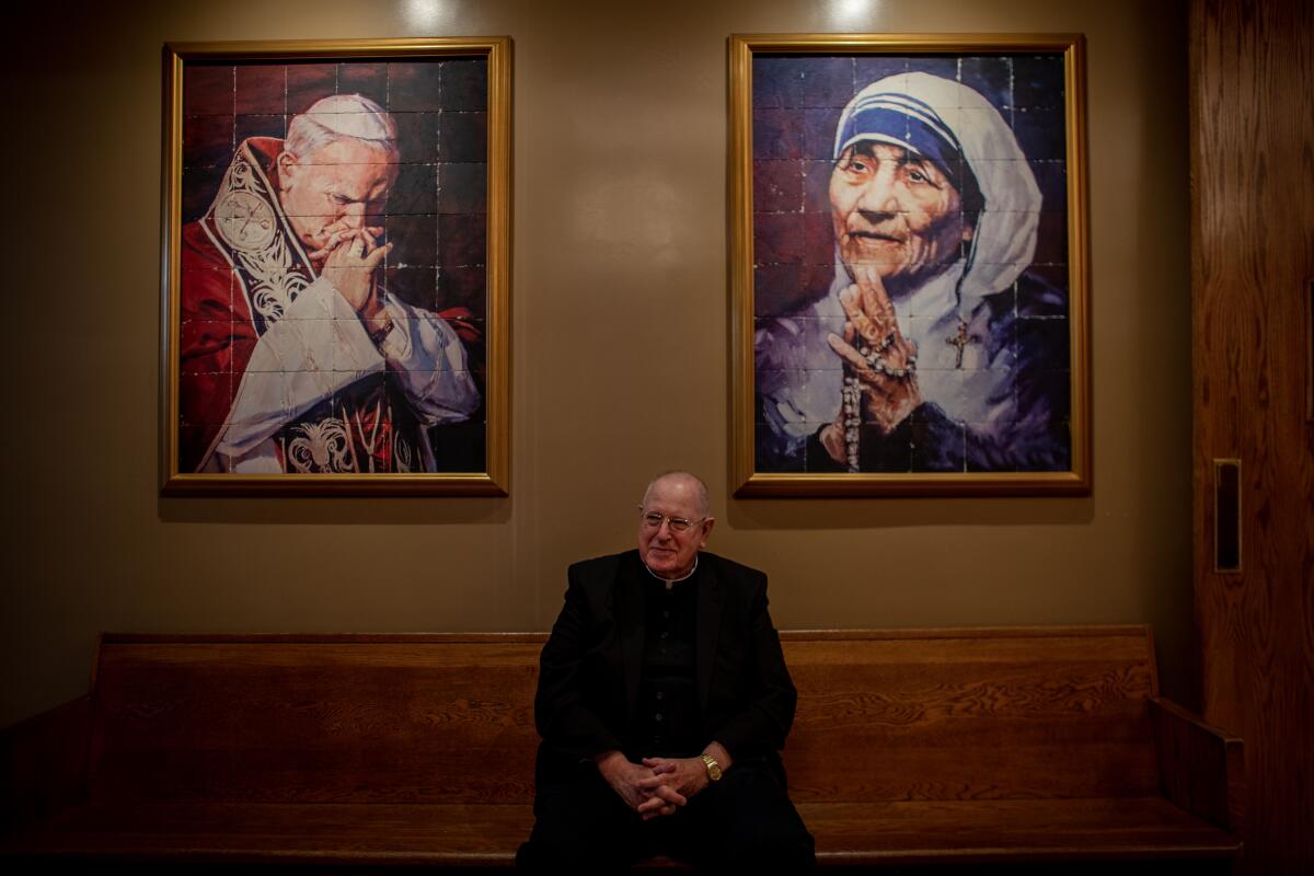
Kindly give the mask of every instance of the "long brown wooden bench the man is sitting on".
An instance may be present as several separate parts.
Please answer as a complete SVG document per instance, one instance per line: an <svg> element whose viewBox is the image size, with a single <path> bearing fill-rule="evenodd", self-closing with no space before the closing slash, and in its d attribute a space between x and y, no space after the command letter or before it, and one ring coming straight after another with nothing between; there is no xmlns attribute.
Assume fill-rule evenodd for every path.
<svg viewBox="0 0 1314 876"><path fill-rule="evenodd" d="M4 732L0 863L510 865L544 638L105 636L87 697ZM1158 697L1147 628L782 638L821 865L1240 852L1240 741Z"/></svg>

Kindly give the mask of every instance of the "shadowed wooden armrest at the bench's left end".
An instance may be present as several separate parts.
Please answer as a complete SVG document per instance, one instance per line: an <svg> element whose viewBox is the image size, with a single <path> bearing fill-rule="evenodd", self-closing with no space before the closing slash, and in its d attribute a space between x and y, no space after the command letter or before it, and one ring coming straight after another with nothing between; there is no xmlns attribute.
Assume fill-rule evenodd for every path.
<svg viewBox="0 0 1314 876"><path fill-rule="evenodd" d="M0 730L0 830L87 799L91 697Z"/></svg>

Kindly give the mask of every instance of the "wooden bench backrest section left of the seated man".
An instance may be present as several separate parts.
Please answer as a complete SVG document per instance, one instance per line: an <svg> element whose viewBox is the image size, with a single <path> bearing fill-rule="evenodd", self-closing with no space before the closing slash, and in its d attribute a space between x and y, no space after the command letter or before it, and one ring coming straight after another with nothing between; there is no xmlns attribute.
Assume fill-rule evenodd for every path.
<svg viewBox="0 0 1314 876"><path fill-rule="evenodd" d="M544 636L106 636L91 793L528 802Z"/></svg>

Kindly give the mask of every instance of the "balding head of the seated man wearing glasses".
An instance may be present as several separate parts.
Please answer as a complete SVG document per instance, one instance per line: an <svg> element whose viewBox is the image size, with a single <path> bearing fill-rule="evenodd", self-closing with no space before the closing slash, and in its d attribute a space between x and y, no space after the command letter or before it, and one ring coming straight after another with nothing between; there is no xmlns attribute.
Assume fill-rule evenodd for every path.
<svg viewBox="0 0 1314 876"><path fill-rule="evenodd" d="M707 545L712 523L694 479L658 478L644 496L639 516L639 556L661 578L683 578L694 569L698 550Z"/></svg>

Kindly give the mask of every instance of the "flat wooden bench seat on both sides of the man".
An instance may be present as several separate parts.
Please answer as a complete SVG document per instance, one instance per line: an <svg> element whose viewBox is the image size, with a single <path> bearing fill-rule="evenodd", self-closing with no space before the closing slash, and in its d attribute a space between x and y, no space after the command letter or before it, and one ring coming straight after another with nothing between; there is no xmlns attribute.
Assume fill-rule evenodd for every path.
<svg viewBox="0 0 1314 876"><path fill-rule="evenodd" d="M802 804L823 863L1226 856L1236 838L1163 799ZM238 805L83 808L34 842L33 854L166 859L510 864L528 806Z"/></svg>

